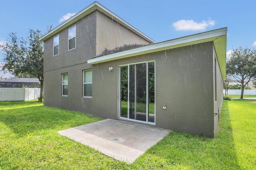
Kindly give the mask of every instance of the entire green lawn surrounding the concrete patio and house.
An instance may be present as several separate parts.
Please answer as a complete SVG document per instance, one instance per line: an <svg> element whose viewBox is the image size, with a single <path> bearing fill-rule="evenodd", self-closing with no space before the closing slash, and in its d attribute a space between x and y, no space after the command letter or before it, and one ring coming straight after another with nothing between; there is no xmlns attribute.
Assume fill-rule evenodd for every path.
<svg viewBox="0 0 256 170"><path fill-rule="evenodd" d="M0 169L256 169L252 101L224 101L215 139L172 131L132 164L56 133L99 118L35 101L0 102Z"/></svg>

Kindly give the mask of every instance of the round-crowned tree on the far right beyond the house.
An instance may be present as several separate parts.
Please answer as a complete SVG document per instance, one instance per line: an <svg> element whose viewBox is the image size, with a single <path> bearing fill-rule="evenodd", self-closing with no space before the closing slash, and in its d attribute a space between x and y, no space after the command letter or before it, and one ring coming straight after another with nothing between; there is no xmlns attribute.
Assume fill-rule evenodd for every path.
<svg viewBox="0 0 256 170"><path fill-rule="evenodd" d="M227 74L241 83L241 99L244 96L244 87L251 79L256 78L256 50L252 48L236 48L232 50L227 61Z"/></svg>

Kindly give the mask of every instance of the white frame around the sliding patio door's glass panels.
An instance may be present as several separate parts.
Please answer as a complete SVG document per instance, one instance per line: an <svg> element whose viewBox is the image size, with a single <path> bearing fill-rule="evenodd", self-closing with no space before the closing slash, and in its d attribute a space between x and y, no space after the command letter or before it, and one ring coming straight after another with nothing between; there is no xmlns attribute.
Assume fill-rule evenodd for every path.
<svg viewBox="0 0 256 170"><path fill-rule="evenodd" d="M121 101L121 98L120 98L120 92L121 92L121 87L120 87L120 84L121 84L121 78L120 78L120 73L121 73L121 67L122 66L128 66L128 72L130 71L130 65L133 65L133 64L141 64L141 63L146 63L147 64L147 72L146 72L146 81L147 81L147 85L146 85L146 88L147 88L147 92L148 92L148 63L152 63L154 62L154 78L155 78L155 103L154 103L154 111L155 111L155 117L154 117L154 123L153 122L150 122L148 121L148 100L146 101L146 121L140 121L140 120L134 120L134 119L130 119L129 117L129 114L127 115L127 118L126 117L121 117L120 116L120 101ZM136 69L136 68L135 68ZM136 74L136 71L135 71L135 74ZM129 80L129 77L130 75L128 74L128 80ZM128 103L129 103L129 100L130 100L130 94L129 94L129 87L130 84L129 84L129 81L128 81ZM136 86L135 86L136 88ZM146 98L148 99L148 94L146 96ZM135 107L136 107L136 102L135 102ZM128 113L129 113L129 107L127 108L128 109ZM128 120L128 121L134 121L134 122L139 122L139 123L144 123L144 124L150 124L150 125L156 125L156 61L155 60L150 60L150 61L143 61L143 62L138 62L138 63L130 63L130 64L122 64L122 65L118 65L118 119L123 119L123 120Z"/></svg>

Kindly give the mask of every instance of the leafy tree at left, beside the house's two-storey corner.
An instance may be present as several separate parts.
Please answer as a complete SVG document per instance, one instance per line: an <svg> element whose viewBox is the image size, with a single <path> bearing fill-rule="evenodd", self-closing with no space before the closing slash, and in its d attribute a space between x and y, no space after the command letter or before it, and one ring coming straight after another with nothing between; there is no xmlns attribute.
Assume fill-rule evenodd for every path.
<svg viewBox="0 0 256 170"><path fill-rule="evenodd" d="M42 36L40 30L30 29L28 37L18 38L16 33L10 33L7 43L0 45L4 51L4 66L2 70L8 70L17 77L36 77L40 81L40 97L44 88L44 58L43 43L39 41Z"/></svg>

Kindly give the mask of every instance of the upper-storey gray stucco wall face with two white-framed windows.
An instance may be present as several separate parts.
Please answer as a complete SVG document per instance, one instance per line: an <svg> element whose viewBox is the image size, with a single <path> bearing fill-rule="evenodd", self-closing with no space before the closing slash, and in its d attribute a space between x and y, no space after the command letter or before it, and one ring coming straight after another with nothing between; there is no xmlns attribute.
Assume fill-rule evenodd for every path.
<svg viewBox="0 0 256 170"><path fill-rule="evenodd" d="M68 29L73 25L76 25L76 48L68 51ZM59 55L53 57L53 37L58 34ZM44 41L44 71L85 63L96 56L96 12L58 34Z"/></svg>

